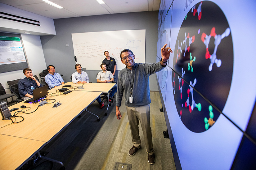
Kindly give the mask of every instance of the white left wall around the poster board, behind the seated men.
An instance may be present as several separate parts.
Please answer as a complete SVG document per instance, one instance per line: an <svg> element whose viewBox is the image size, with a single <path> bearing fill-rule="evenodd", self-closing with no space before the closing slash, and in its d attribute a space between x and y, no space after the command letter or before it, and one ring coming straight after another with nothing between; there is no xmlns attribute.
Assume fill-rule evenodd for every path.
<svg viewBox="0 0 256 170"><path fill-rule="evenodd" d="M21 38L23 41L29 68L32 70L33 75L37 75L38 78L40 78L39 73L46 69L40 36L21 34ZM7 81L20 78L25 78L22 70L0 73L0 83L4 88L9 88ZM8 89L6 92L10 93L10 90ZM11 101L11 98L8 99L8 101Z"/></svg>

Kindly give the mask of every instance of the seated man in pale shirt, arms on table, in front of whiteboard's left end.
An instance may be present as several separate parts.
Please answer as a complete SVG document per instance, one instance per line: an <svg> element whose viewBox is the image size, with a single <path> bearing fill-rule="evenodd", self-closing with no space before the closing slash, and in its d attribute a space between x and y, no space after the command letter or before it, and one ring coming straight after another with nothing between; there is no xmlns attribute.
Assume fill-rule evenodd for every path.
<svg viewBox="0 0 256 170"><path fill-rule="evenodd" d="M89 76L86 72L82 71L81 64L75 65L76 72L72 74L72 83L89 83Z"/></svg>

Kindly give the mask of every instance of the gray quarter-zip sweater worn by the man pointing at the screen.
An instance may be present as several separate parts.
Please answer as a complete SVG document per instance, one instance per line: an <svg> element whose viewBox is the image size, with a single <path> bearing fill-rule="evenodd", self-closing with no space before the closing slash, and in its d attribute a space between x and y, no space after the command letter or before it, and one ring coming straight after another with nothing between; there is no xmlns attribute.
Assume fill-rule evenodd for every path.
<svg viewBox="0 0 256 170"><path fill-rule="evenodd" d="M128 107L140 107L150 104L149 75L163 70L165 66L162 66L160 62L153 64L134 63L132 70L128 69L127 66L122 69L117 81L116 106L121 106L123 94L125 105ZM132 84L133 103L130 103L129 97L131 96Z"/></svg>

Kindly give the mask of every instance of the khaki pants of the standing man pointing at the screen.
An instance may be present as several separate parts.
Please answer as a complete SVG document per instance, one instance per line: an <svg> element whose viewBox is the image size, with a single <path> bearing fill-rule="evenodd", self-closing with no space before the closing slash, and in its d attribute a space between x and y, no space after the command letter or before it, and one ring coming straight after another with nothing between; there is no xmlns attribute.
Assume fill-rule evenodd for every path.
<svg viewBox="0 0 256 170"><path fill-rule="evenodd" d="M129 125L132 133L132 143L135 147L141 147L141 138L139 136L139 121L141 122L141 128L144 135L146 152L149 155L153 155L153 142L152 133L150 127L150 106L140 106L140 107L128 107L126 106L127 116L129 120Z"/></svg>

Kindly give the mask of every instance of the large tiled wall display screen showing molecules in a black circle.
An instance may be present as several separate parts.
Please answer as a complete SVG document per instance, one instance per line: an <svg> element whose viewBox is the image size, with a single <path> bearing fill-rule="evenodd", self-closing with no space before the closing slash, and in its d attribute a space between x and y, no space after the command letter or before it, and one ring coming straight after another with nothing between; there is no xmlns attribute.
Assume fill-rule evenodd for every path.
<svg viewBox="0 0 256 170"><path fill-rule="evenodd" d="M157 74L177 169L256 165L256 1L162 0ZM247 154L246 154L247 153Z"/></svg>

